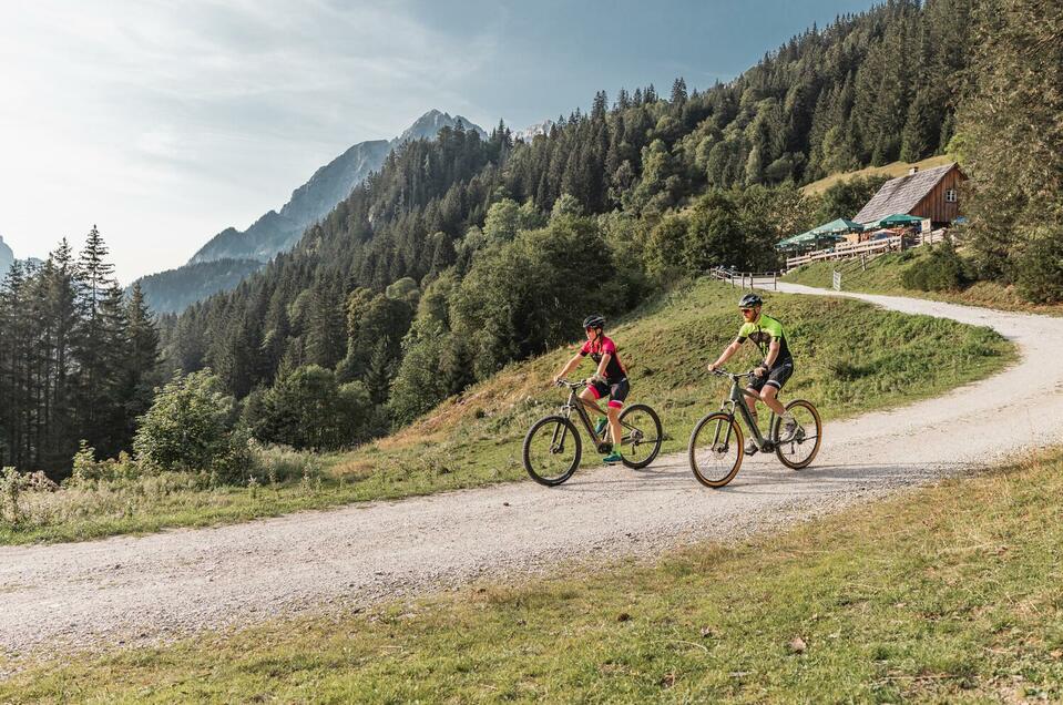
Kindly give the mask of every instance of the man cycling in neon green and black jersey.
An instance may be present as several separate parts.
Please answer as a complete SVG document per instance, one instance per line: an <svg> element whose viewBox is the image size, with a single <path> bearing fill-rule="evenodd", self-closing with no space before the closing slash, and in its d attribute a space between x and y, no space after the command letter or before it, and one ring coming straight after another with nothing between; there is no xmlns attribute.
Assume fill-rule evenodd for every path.
<svg viewBox="0 0 1063 705"><path fill-rule="evenodd" d="M783 330L783 324L771 318L767 314L760 313L764 306L764 299L757 294L746 294L738 302L738 308L742 309L742 317L745 323L738 329L738 337L728 345L719 358L708 366L708 371L722 367L732 355L738 351L746 339L753 340L764 355L764 361L753 371L754 377L749 379L747 389L753 392L756 399L759 399L769 409L783 418L783 433L779 440L787 440L794 437L797 431L797 421L779 403L778 395L783 385L794 374L794 358L790 356L789 345L786 341L786 334ZM753 397L747 397L749 410L753 412L753 420L757 420L757 402ZM746 443L746 454L752 456L759 450L757 445L750 440Z"/></svg>

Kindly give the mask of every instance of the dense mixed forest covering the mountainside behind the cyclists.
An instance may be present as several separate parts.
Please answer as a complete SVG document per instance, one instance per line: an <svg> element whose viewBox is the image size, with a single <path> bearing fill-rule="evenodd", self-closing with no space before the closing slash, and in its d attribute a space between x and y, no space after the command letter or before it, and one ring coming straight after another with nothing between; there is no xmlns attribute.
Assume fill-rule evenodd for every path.
<svg viewBox="0 0 1063 705"><path fill-rule="evenodd" d="M1016 83L1049 91L1033 114L1055 132L1031 139L1057 167L1059 64L1029 70L1043 68L1031 47L1051 57L1054 39L1030 0L891 1L793 38L726 84L599 92L529 143L501 123L487 140L444 129L391 153L293 252L164 316L163 371L209 369L263 441L348 446L575 337L591 310L622 314L715 265L774 267L780 237L851 216L881 181L824 196L803 183L947 149L970 160L979 266L1018 277L1016 257L1059 252L1057 228L1024 224L1045 194L1059 211L1060 172L1036 182L1012 160L1030 190L1006 235L991 227L982 210L1004 194L989 150L1030 134L991 102ZM1060 295L1045 286L1045 300Z"/></svg>

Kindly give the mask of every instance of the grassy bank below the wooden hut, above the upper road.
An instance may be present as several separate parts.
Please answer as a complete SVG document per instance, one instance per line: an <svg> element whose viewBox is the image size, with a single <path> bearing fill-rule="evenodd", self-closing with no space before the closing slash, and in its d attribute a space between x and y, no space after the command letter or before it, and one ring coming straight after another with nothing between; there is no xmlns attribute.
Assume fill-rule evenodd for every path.
<svg viewBox="0 0 1063 705"><path fill-rule="evenodd" d="M929 252L927 247L916 247L903 253L881 255L868 263L867 270L861 268L858 260L814 262L788 272L783 280L830 288L834 272L837 269L841 272L841 286L848 292L914 296L1000 310L1063 316L1063 306L1030 304L1023 300L1013 287L995 282L975 282L968 288L958 292L920 292L904 287L901 280L904 269L924 259Z"/></svg>

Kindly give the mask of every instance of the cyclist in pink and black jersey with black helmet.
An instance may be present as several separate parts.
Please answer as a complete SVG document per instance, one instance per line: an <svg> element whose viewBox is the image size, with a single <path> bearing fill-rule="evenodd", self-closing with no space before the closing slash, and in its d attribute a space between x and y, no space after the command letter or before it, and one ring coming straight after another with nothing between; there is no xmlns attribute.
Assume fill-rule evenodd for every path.
<svg viewBox="0 0 1063 705"><path fill-rule="evenodd" d="M561 371L558 372L553 379L556 382L559 379L565 377L575 369L587 355L597 362L597 369L594 375L586 380L587 387L580 394L580 399L583 400L584 405L601 413L597 400L605 396L609 397L609 403L605 410L606 418L599 420L594 431L601 435L602 431L605 430L605 426L609 425L613 450L610 454L605 456L604 460L607 464L613 464L623 460L617 449L620 448L620 439L622 437L620 412L624 408L624 399L627 398L627 394L631 391L631 385L627 381L627 369L620 360L616 344L605 337L605 318L602 316L587 316L583 320L583 330L586 334L586 343L583 344L579 352L572 356L572 359L565 362L564 367L561 368Z"/></svg>

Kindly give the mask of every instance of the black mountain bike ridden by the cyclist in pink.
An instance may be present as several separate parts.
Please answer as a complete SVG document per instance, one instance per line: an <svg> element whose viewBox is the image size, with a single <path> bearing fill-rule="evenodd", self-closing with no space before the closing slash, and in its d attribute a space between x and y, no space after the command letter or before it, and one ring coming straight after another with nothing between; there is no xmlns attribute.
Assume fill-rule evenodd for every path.
<svg viewBox="0 0 1063 705"><path fill-rule="evenodd" d="M591 425L589 410L599 416L605 416L604 412L597 405L584 403L579 397L578 392L586 387L586 382L562 379L558 381L558 386L569 390L569 400L558 413L551 413L532 423L524 436L522 450L524 470L532 480L546 487L561 484L580 467L583 441L572 422L573 411L583 423L583 429L597 452L604 454L613 449L612 443L606 440L609 426L597 436ZM622 462L635 470L653 462L664 439L657 412L644 403L633 403L620 415L620 426L623 433L619 451Z"/></svg>

